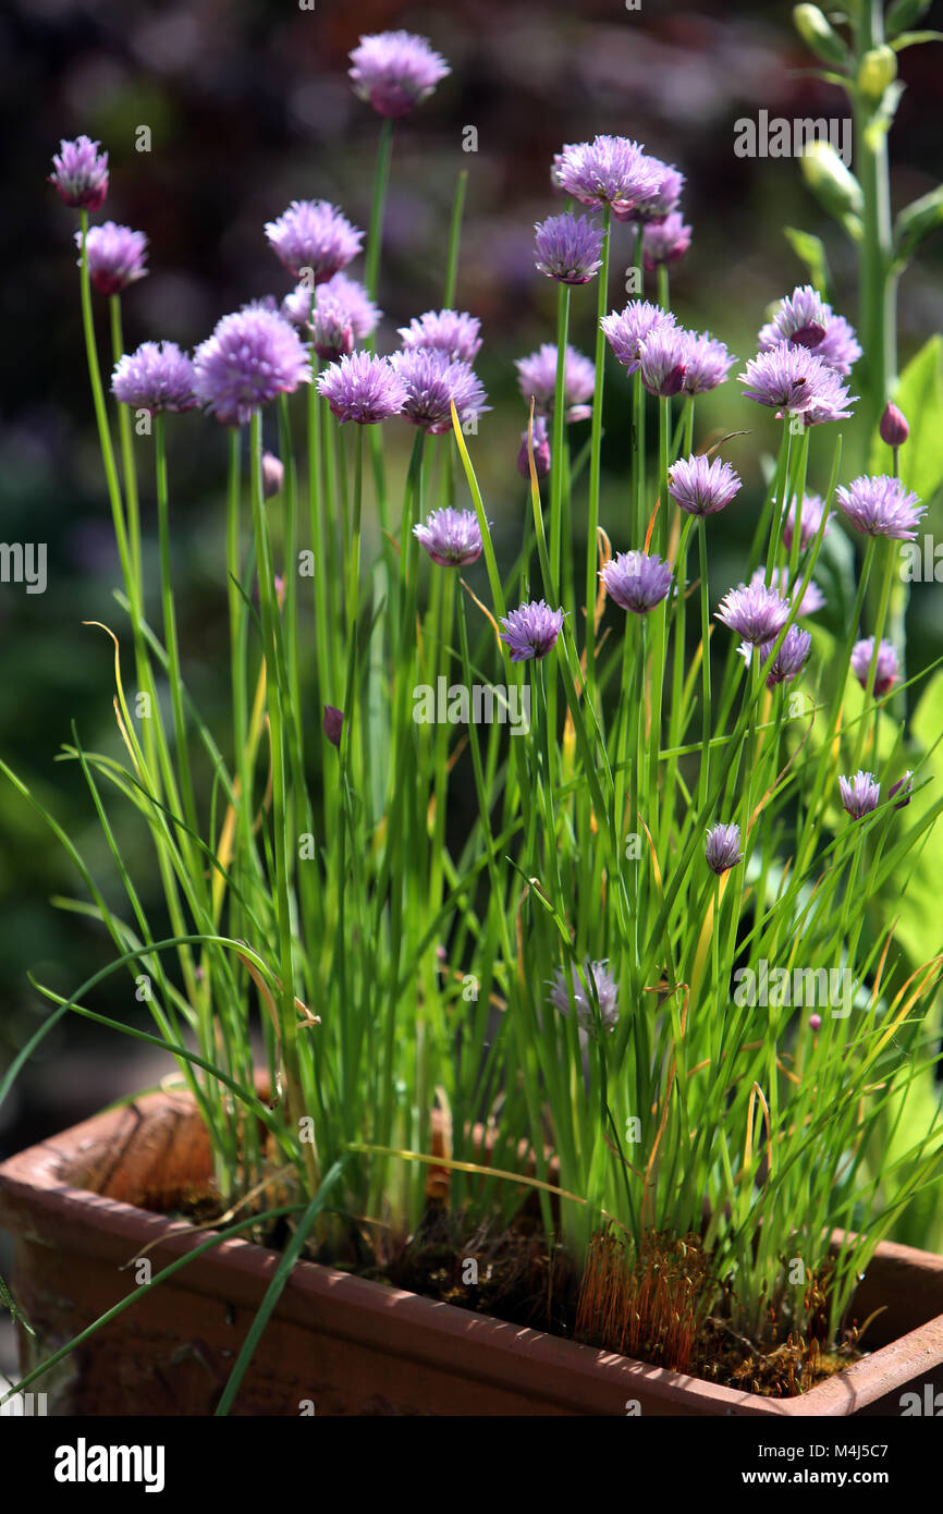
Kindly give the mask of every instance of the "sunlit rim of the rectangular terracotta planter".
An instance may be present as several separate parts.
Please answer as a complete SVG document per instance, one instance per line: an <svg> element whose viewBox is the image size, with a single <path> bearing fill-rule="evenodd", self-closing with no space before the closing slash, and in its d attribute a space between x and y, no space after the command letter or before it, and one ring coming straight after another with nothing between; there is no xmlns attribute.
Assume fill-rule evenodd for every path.
<svg viewBox="0 0 943 1514"><path fill-rule="evenodd" d="M180 1096L167 1093L145 1093L8 1158L0 1166L0 1223L6 1217L12 1229L53 1245L73 1245L86 1255L109 1254L129 1260L141 1245L147 1245L148 1255L154 1258L154 1270L159 1270L157 1258L165 1266L168 1260L194 1251L207 1235L188 1220L171 1220L62 1182L59 1176L67 1163L74 1170L83 1149L115 1139L132 1113L185 1114L188 1102L182 1105ZM23 1219L32 1219L32 1225L23 1225ZM840 1235L836 1231L833 1243ZM186 1287L219 1297L218 1279L223 1275L224 1296L239 1299L251 1308L257 1305L259 1285L265 1287L279 1257L271 1248L233 1237L180 1269L163 1287ZM943 1273L943 1257L892 1241L881 1243L875 1261L892 1264L892 1270L896 1266L922 1273ZM397 1354L430 1363L456 1364L460 1346L463 1354L472 1357L471 1363L462 1364L462 1370L481 1381L507 1378L527 1385L539 1376L546 1385L548 1372L563 1372L572 1382L560 1384L557 1399L578 1405L583 1413L612 1413L604 1408L587 1410L587 1390L590 1400L602 1403L605 1399L608 1403L616 1388L627 1399L646 1394L661 1400L666 1407L672 1405L674 1413L840 1417L902 1388L914 1379L916 1370L929 1372L943 1361L940 1314L849 1364L808 1393L793 1399L770 1399L704 1378L651 1367L630 1357L460 1310L307 1260L295 1264L275 1313L298 1317L301 1323L306 1319L310 1323L313 1313L319 1317L318 1328L365 1343L375 1343L378 1329L381 1349L395 1349ZM321 1323L322 1314L325 1317ZM392 1337L401 1338L391 1346Z"/></svg>

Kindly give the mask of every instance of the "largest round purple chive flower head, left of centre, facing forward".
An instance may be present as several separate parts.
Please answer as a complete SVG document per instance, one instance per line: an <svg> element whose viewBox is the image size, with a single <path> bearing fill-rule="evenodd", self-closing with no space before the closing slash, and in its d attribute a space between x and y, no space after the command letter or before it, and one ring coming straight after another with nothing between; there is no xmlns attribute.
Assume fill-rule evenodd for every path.
<svg viewBox="0 0 943 1514"><path fill-rule="evenodd" d="M194 353L195 392L221 425L244 425L280 394L310 383L307 348L277 310L224 315Z"/></svg>

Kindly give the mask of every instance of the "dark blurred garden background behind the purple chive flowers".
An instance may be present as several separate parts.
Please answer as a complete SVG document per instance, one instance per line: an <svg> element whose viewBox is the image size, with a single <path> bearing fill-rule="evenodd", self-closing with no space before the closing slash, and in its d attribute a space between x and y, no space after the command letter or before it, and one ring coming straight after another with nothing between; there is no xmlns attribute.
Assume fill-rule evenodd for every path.
<svg viewBox="0 0 943 1514"><path fill-rule="evenodd" d="M513 460L525 410L513 359L554 338L556 289L533 268L531 239L533 223L556 207L548 171L563 142L627 133L684 171L693 244L672 268L672 304L684 324L710 327L742 359L755 350L766 306L807 279L784 224L825 239L837 307L857 319L848 244L804 189L796 162L733 153L736 120L760 109L789 118L846 114L840 92L814 77L790 11L731 0L696 8L643 0L631 12L618 0L316 0L313 11L297 0L8 0L0 17L0 537L48 544L48 587L30 597L23 586L0 586L0 755L74 836L109 899L120 902L120 893L82 775L54 760L73 721L85 746L117 749L110 650L80 622L123 625L83 366L74 217L45 183L59 138L85 132L101 141L110 191L97 220L150 236L150 276L124 297L126 347L171 338L192 348L227 310L288 292L262 227L292 198L325 197L366 227L378 120L350 89L347 53L365 32L406 27L430 36L453 73L397 129L378 350L397 345L397 326L440 304L451 198L466 168L457 304L483 321L478 369L493 406L475 460L489 510L500 528L510 522L516 542L524 491ZM940 26L941 12L934 8L922 24ZM934 45L901 55L907 92L892 133L895 207L940 177L941 59ZM150 153L135 150L142 124L151 129ZM466 126L478 132L477 153L462 150ZM615 235L612 304L621 307L630 233L621 227ZM901 285L902 365L943 326L941 244L925 244ZM362 263L350 273L360 274ZM589 353L595 298L595 286L574 294L572 339ZM98 315L103 366L110 368L101 300ZM751 534L760 459L775 448L775 424L742 400L734 382L702 403L698 421L699 433L752 431L725 448L746 489L739 518L727 512L711 536L720 586L739 577L737 554ZM404 450L406 427L397 436L394 445ZM624 447L624 433L610 425L605 521L613 519ZM174 424L171 450L185 668L212 724L223 718L227 689L219 568L226 438L189 415ZM816 453L819 472L826 451ZM147 477L144 509L153 550ZM920 598L911 637L919 662L943 650L938 597ZM139 827L124 830L120 813L117 824L132 863L144 869L144 886L150 866L157 899ZM0 1069L50 1013L27 970L70 993L112 955L94 922L50 905L50 896L80 892L56 839L0 778ZM117 978L95 999L104 1013L124 1017L141 1010L129 1010L127 1001L127 980ZM165 1070L165 1060L138 1055L120 1037L86 1022L64 1023L0 1110L0 1155Z"/></svg>

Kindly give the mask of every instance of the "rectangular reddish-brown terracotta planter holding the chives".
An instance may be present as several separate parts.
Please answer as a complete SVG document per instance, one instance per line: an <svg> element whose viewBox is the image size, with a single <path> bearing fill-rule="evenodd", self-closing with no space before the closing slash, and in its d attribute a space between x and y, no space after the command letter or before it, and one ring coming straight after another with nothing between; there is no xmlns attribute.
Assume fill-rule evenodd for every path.
<svg viewBox="0 0 943 1514"><path fill-rule="evenodd" d="M209 1175L198 1117L147 1095L0 1167L0 1223L17 1238L14 1288L36 1340L23 1364L62 1346L135 1285L147 1248L157 1272L200 1238L136 1208ZM51 1414L212 1414L277 1254L230 1240L145 1293L36 1387ZM943 1388L943 1258L882 1245L857 1311L876 1349L796 1399L716 1387L448 1304L298 1263L244 1379L235 1413L849 1416L899 1414ZM637 1408L636 1408L637 1405Z"/></svg>

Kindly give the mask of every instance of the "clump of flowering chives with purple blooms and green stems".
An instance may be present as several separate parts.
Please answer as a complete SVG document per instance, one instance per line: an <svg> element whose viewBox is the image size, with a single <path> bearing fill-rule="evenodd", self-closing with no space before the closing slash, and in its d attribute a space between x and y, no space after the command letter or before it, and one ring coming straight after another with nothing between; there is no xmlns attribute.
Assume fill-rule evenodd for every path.
<svg viewBox="0 0 943 1514"><path fill-rule="evenodd" d="M710 407L736 359L672 309L669 269L690 241L683 176L625 138L571 144L552 165L566 209L536 229L557 341L518 362L528 503L521 550L500 560L475 472L480 324L453 309L465 176L447 283L430 291L443 307L403 327L400 351L374 350L395 118L448 67L407 33L363 38L351 58L383 121L365 248L335 206L294 201L265 230L295 288L280 307L224 315L192 360L170 342L123 351L121 291L145 273L145 241L89 226L107 191L97 142L54 159L80 218L124 577L120 618L100 627L114 748L74 736L64 757L127 908L3 766L79 869L89 898L70 907L117 952L68 999L42 990L58 1005L44 1031L70 1011L170 1051L221 1204L288 1182L292 1255L309 1234L318 1255L348 1255L353 1234L381 1255L384 1237L419 1226L437 1169L469 1228L495 1210L510 1222L536 1188L577 1269L608 1229L630 1258L652 1237L699 1237L702 1287L733 1279L736 1326L757 1341L770 1310L783 1331L808 1329L807 1282L826 1276L834 1337L875 1246L943 1170L943 951L896 934L943 807L940 674L910 680L908 724L889 704L902 683L892 590L925 509L899 477L901 427L884 468L846 478L861 348L814 286L781 300L737 372L745 406L780 422L778 460L743 580L720 593L710 537L742 480ZM610 309L619 221L636 227L637 298ZM362 248L365 286L345 273ZM110 406L95 289L110 301ZM592 360L569 345L589 321ZM612 537L604 397L625 436ZM200 407L209 418L177 418ZM404 422L415 439L397 475L383 438ZM177 631L183 424L227 435L226 730L191 698ZM157 583L142 568L144 491ZM814 619L829 533L863 548L842 637ZM480 593L463 572L478 559ZM474 802L460 846L457 784ZM170 933L123 860L129 810L150 833ZM112 972L130 974L151 1031L94 1010ZM937 1210L920 1213L914 1238L938 1241Z"/></svg>

